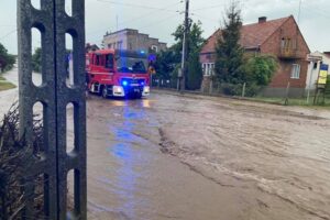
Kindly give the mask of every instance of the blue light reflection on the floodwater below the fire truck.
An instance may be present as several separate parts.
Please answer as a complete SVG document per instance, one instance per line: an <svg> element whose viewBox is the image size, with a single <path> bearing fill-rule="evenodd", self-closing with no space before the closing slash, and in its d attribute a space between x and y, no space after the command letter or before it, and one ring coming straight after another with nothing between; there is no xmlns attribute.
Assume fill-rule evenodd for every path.
<svg viewBox="0 0 330 220"><path fill-rule="evenodd" d="M145 100L114 100L111 103L119 107L116 109L116 113L121 117L117 124L112 122L109 128L112 141L108 147L111 160L118 165L118 167L111 167L111 169L116 169L113 172L116 174L113 176L114 183L112 184L118 187L116 194L122 201L118 211L134 218L138 215L138 208L141 208L145 202L141 201L141 197L138 198L136 194L140 193L139 188L141 188L139 168L145 166L148 161L145 158L147 155L142 154L140 148L146 144L146 141L134 134L140 128L139 123L145 120L143 108L145 105L139 105L145 103Z"/></svg>

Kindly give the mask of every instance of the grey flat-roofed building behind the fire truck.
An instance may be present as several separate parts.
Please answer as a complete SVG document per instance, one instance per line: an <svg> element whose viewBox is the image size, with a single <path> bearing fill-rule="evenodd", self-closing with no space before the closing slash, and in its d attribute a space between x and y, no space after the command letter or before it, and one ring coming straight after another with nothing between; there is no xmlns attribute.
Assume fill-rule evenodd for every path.
<svg viewBox="0 0 330 220"><path fill-rule="evenodd" d="M166 50L166 43L138 30L124 29L113 33L107 33L103 37L105 48L132 50L144 52L160 52Z"/></svg>

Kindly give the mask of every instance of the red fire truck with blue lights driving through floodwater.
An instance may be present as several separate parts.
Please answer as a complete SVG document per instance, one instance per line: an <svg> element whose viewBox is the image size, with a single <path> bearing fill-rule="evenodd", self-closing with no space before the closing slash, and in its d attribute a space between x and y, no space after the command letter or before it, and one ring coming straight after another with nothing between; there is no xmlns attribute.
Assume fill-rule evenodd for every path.
<svg viewBox="0 0 330 220"><path fill-rule="evenodd" d="M142 98L150 95L151 69L144 52L100 50L86 55L87 89L108 97Z"/></svg>

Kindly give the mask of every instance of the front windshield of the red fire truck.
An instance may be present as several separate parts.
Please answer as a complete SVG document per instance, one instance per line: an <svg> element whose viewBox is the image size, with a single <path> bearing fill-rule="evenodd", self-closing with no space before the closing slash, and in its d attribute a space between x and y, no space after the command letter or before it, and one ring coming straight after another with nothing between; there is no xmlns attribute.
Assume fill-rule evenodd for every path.
<svg viewBox="0 0 330 220"><path fill-rule="evenodd" d="M144 61L141 58L120 57L119 59L117 59L117 72L145 74L146 68Z"/></svg>

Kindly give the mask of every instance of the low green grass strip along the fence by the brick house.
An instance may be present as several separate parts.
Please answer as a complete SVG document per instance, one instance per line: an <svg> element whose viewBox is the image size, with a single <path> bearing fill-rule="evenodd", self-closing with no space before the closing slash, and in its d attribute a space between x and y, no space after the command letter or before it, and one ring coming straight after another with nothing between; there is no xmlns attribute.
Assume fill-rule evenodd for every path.
<svg viewBox="0 0 330 220"><path fill-rule="evenodd" d="M262 101L266 103L274 103L274 105L282 105L285 106L285 99L284 98L265 98L265 97L254 97L251 98L252 101ZM321 98L320 98L321 100ZM314 97L310 97L309 103L307 103L306 98L300 98L300 99L288 99L288 105L287 106L300 106L300 107L330 107L330 99L326 98L323 105L312 105L314 102Z"/></svg>

